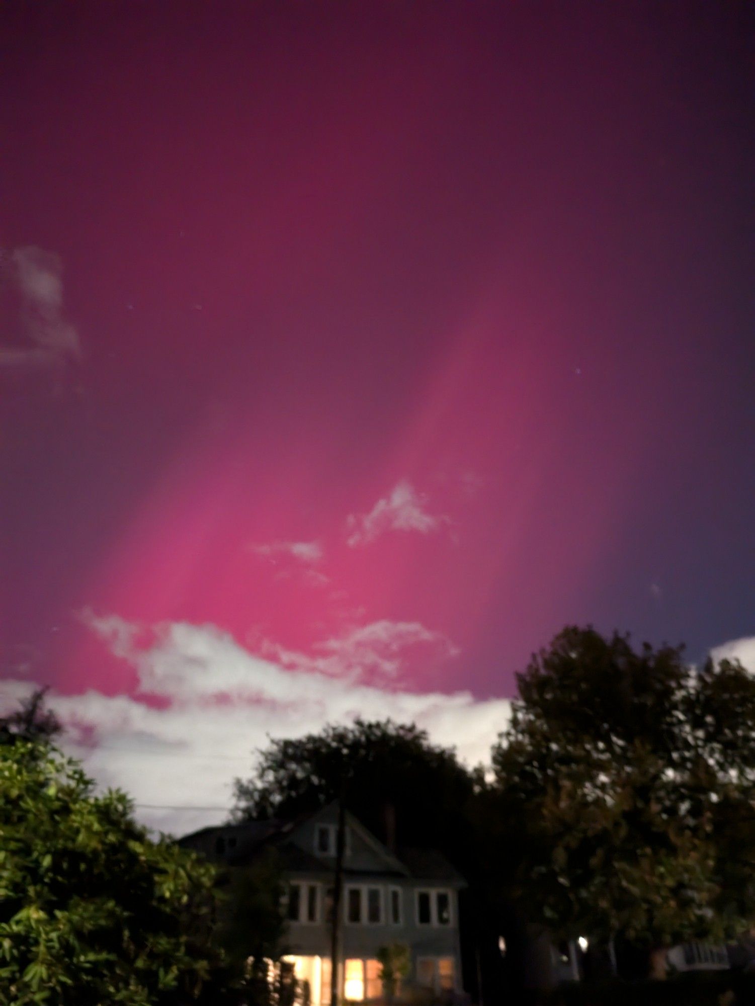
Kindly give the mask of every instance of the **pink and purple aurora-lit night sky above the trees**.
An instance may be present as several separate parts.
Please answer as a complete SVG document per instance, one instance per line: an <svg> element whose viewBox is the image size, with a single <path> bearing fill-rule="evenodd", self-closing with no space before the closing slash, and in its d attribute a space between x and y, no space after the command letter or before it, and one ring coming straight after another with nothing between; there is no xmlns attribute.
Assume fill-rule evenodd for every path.
<svg viewBox="0 0 755 1006"><path fill-rule="evenodd" d="M307 676L453 740L566 623L755 636L752 12L6 5L7 694L231 762Z"/></svg>

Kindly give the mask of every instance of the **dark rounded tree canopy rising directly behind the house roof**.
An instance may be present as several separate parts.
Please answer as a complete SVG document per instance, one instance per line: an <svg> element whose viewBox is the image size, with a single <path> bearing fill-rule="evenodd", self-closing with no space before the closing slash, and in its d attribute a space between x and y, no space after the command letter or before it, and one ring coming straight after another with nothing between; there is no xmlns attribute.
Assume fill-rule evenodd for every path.
<svg viewBox="0 0 755 1006"><path fill-rule="evenodd" d="M394 814L400 844L458 845L474 777L425 730L357 719L295 740L271 740L255 775L237 780L237 820L297 815L338 798L379 837Z"/></svg>

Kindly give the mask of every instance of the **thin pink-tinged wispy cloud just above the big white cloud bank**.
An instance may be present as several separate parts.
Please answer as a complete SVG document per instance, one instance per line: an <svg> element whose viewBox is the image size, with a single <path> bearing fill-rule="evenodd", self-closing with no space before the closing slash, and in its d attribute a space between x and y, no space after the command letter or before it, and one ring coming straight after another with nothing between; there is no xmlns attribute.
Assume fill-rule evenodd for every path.
<svg viewBox="0 0 755 1006"><path fill-rule="evenodd" d="M265 645L264 653L292 670L316 671L329 677L358 681L370 675L396 679L406 651L417 646L423 647L436 660L457 656L459 652L446 636L426 629L419 622L382 619L354 626L341 636L316 643L314 656L271 643Z"/></svg>

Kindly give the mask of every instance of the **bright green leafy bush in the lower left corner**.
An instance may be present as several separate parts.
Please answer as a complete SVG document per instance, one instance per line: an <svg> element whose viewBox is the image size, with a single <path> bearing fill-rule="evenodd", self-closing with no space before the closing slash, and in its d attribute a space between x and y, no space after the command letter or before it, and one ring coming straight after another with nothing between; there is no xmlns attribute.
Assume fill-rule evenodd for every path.
<svg viewBox="0 0 755 1006"><path fill-rule="evenodd" d="M48 745L0 747L0 1001L177 1006L211 991L210 866L151 841Z"/></svg>

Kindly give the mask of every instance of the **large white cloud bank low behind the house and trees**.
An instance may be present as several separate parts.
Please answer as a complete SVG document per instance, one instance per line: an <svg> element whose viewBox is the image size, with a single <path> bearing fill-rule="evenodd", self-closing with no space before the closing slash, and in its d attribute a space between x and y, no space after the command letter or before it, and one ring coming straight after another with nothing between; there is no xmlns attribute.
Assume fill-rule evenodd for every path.
<svg viewBox="0 0 755 1006"><path fill-rule="evenodd" d="M508 718L505 699L477 701L467 691L383 691L285 668L255 656L214 626L166 625L140 648L137 627L129 635L128 624L113 617L93 617L91 624L134 665L140 691L131 697L92 689L52 693L50 705L68 728L66 746L84 759L100 786L123 787L140 805L180 808L137 808L142 821L174 833L222 820L223 810L185 808L230 808L234 778L250 773L253 751L271 736L300 736L356 716L392 717L418 723L435 742L455 745L474 765L487 762ZM367 640L384 633L396 645L420 635L406 625L365 629ZM0 708L15 705L30 687L28 680L2 682Z"/></svg>

